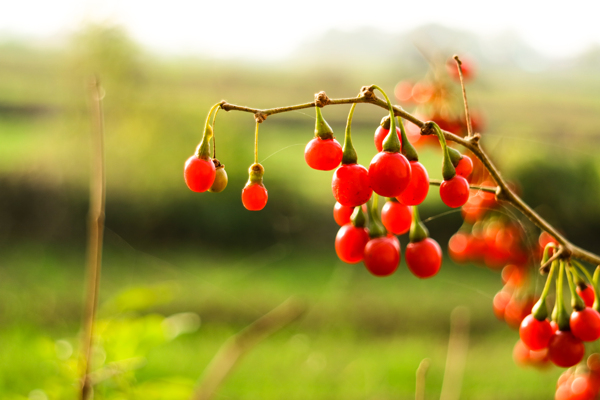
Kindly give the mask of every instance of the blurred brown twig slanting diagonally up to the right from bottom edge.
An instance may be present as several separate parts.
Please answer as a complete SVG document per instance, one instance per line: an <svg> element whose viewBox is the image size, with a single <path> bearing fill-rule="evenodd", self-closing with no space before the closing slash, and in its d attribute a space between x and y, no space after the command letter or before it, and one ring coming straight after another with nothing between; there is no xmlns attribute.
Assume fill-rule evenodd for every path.
<svg viewBox="0 0 600 400"><path fill-rule="evenodd" d="M230 337L204 370L200 384L191 400L212 398L219 385L223 383L244 354L268 336L299 318L305 311L304 303L290 298L248 325L241 332Z"/></svg>

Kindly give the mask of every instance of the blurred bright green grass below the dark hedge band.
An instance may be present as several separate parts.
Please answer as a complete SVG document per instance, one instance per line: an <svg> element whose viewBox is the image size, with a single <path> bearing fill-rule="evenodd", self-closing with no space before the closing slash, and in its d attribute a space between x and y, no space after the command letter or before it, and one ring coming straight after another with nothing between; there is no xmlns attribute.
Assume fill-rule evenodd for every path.
<svg viewBox="0 0 600 400"><path fill-rule="evenodd" d="M36 245L3 249L3 256L0 335L10 345L2 352L0 390L3 398L25 398L32 390L48 390L49 382L61 376L50 345L57 340L77 345L84 257ZM471 317L461 398L549 398L560 371L513 364L518 335L491 312L491 298L500 287L497 273L450 262L432 280L413 277L405 265L392 277L378 279L361 264L340 263L332 252L307 255L283 244L254 253L197 248L148 254L109 237L101 318L117 324L134 316L193 312L201 325L172 341L158 340L147 353L141 347L129 349L130 356L147 358L136 372L136 390L127 395L128 386L117 380L101 384L99 397L161 398L164 391L142 393L164 383L179 387L169 398L187 398L230 335L293 295L307 302L307 314L242 359L217 398L409 399L423 358L431 359L427 393L435 398L449 314L459 305ZM147 307L138 302L137 311L132 305L133 311L110 313L114 297L124 290L130 296L143 290L155 296ZM119 354L110 347L118 343L106 336L101 338L108 363ZM55 398L52 393L48 390L49 398Z"/></svg>

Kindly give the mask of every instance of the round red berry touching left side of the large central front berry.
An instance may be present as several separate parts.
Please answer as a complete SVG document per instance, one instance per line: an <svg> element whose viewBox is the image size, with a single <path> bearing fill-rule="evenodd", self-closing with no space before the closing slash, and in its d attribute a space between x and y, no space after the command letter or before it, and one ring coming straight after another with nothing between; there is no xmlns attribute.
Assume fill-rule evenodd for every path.
<svg viewBox="0 0 600 400"><path fill-rule="evenodd" d="M337 202L347 207L365 204L373 194L369 184L369 172L359 164L344 164L336 169L331 180L331 189Z"/></svg>

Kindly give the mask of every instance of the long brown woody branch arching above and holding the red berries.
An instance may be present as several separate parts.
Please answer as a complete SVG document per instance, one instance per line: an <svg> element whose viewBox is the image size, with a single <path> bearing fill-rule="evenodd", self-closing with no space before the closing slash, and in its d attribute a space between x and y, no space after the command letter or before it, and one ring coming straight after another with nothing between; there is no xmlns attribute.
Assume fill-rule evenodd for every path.
<svg viewBox="0 0 600 400"><path fill-rule="evenodd" d="M324 95L324 92L319 93L319 95L321 95L321 94ZM387 103L374 94L372 86L363 86L357 97L342 98L342 99L327 98L326 102L313 101L311 103L297 104L294 106L276 107L276 108L269 108L269 109L261 110L261 109L257 109L257 108L237 106L234 104L229 104L226 101L222 101L221 108L223 108L225 111L234 110L234 111L244 111L244 112L252 113L255 115L257 120L260 117L262 117L262 120L261 120L261 122L262 122L269 115L274 115L274 114L279 114L279 113L284 113L284 112L294 111L294 110L301 110L304 108L312 108L312 107L315 107L315 104L317 104L317 103L319 106L323 106L323 107L325 107L327 105L370 103L370 104L379 106L385 110L388 110ZM419 128L421 128L421 135L433 134L433 131L428 129L428 125L426 122L421 121L414 115L411 115L408 112L404 111L402 109L402 107L394 106L393 109L394 109L394 114L396 116L404 118L405 120L410 121L411 123L413 123L416 126L418 126ZM508 184L502 178L500 171L498 171L498 168L496 168L496 166L494 165L494 163L492 162L490 157L481 148L481 145L479 143L479 139L481 138L481 135L479 135L478 133L475 133L473 136L470 136L467 138L462 138L451 132L447 132L447 131L442 131L442 132L444 133L444 137L446 138L447 141L449 140L451 142L458 143L461 146L466 147L481 161L481 163L483 164L485 169L488 170L488 172L490 173L490 175L492 176L492 178L498 185L498 187L494 191L494 193L496 193L496 199L498 201L503 201L503 202L511 204L513 207L515 207L521 213L523 213L523 215L525 215L538 228L540 228L543 231L548 232L548 234L550 234L560 244L560 247L562 248L563 257L565 257L565 258L574 257L574 258L577 258L577 259L580 259L583 261L587 261L592 264L596 264L596 265L600 264L600 256L598 256L590 251L587 251L585 249L582 249L579 246L576 246L573 243L571 243L566 237L564 237L560 232L558 232L558 230L556 228L554 228L550 223L548 223L548 221L546 221L538 213L536 213L529 205L527 205L527 203L525 203L523 201L523 199L521 199L519 196L517 196L515 194L515 192L512 191L508 187ZM435 185L436 183L432 183L432 184ZM491 188L473 187L473 189L489 191L489 189L491 189Z"/></svg>

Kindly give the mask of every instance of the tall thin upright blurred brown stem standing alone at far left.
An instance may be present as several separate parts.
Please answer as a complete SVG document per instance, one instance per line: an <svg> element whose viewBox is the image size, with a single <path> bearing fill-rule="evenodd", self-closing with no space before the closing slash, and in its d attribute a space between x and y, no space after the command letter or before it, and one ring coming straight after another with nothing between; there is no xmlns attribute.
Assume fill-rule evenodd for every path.
<svg viewBox="0 0 600 400"><path fill-rule="evenodd" d="M81 400L92 397L90 379L91 353L98 289L102 268L102 238L104 232L104 204L106 184L104 176L104 117L102 112L102 88L98 79L90 83L92 110L92 165L90 179L90 209L88 214L87 291L84 314L84 334L81 342Z"/></svg>

